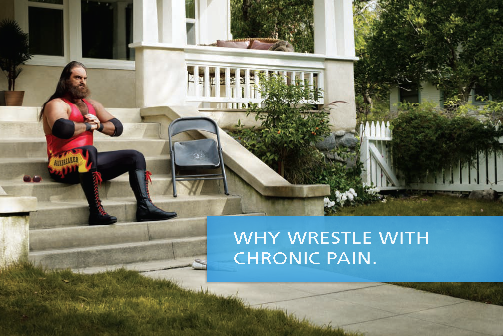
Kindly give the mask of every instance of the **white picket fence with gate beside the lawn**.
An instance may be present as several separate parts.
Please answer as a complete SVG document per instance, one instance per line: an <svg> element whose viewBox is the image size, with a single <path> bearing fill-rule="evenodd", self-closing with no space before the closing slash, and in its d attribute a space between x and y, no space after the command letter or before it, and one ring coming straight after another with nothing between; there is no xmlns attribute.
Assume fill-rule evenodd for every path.
<svg viewBox="0 0 503 336"><path fill-rule="evenodd" d="M498 126L500 125L501 123L498 123ZM468 192L491 188L503 192L503 151L489 155L480 152L475 167L458 164L442 172L434 174L426 172L424 180L406 186L400 178L400 172L393 166L392 132L389 126L389 122L360 125L363 182L373 184L381 190L408 188ZM499 142L503 143L503 137Z"/></svg>

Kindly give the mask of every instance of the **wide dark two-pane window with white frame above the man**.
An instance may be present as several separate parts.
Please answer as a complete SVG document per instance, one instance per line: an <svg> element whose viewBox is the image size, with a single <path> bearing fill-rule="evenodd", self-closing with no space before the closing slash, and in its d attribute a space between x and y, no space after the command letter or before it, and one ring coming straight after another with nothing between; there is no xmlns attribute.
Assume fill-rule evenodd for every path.
<svg viewBox="0 0 503 336"><path fill-rule="evenodd" d="M134 69L133 0L16 0L15 19L29 34L28 64Z"/></svg>

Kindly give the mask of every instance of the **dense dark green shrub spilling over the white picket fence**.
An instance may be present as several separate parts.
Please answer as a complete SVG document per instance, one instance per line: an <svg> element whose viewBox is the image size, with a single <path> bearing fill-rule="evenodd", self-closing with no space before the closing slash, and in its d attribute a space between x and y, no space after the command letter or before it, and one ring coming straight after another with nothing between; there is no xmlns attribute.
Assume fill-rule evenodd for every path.
<svg viewBox="0 0 503 336"><path fill-rule="evenodd" d="M460 163L473 165L479 151L500 148L503 128L468 117L447 117L416 106L392 121L395 167L406 183Z"/></svg>

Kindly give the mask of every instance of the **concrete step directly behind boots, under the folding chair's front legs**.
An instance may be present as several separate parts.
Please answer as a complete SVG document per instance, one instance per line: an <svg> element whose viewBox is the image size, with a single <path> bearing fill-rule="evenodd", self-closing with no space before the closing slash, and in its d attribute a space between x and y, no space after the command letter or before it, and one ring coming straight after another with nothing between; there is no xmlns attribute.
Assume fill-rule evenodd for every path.
<svg viewBox="0 0 503 336"><path fill-rule="evenodd" d="M239 214L240 196L180 195L178 197L151 195L152 201L166 211L176 211L178 218ZM113 197L102 199L105 210L117 217L119 223L136 221L136 200L134 197ZM63 228L87 226L89 208L85 200L39 201L37 211L30 214L30 229Z"/></svg>

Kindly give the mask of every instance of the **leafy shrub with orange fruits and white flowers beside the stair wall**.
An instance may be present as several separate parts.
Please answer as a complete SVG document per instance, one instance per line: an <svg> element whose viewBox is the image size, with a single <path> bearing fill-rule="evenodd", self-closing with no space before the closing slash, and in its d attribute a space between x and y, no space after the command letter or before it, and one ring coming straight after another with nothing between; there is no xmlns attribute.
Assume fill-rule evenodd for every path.
<svg viewBox="0 0 503 336"><path fill-rule="evenodd" d="M322 92L299 80L295 81L295 85L289 85L282 76L276 75L269 78L261 75L260 83L263 105L250 104L246 114L255 114L255 119L261 121L261 127L247 129L238 121L237 130L231 133L234 138L290 183L328 184L330 197L325 199L327 213L344 205L338 195L349 190L352 193L346 205L377 199L375 191L370 194L368 190L371 187L362 184L362 164L359 161L348 168L340 162L327 160L314 147L314 143L330 134L328 112L325 108L315 109ZM343 155L343 152L346 152L345 149L340 149L338 154L359 157L358 153Z"/></svg>

